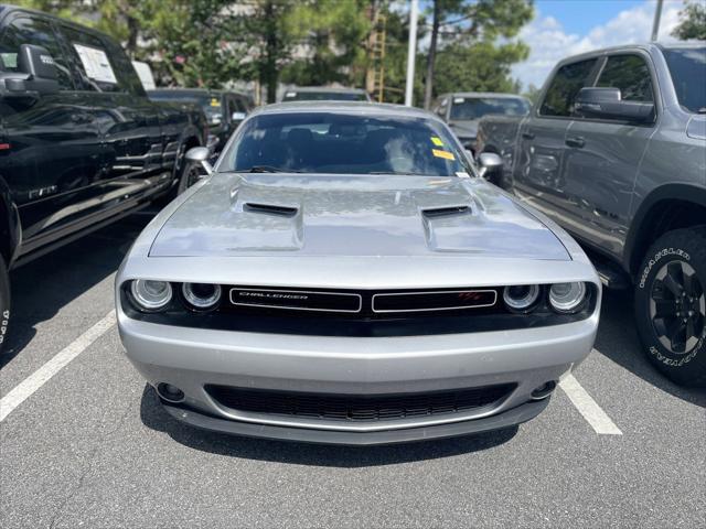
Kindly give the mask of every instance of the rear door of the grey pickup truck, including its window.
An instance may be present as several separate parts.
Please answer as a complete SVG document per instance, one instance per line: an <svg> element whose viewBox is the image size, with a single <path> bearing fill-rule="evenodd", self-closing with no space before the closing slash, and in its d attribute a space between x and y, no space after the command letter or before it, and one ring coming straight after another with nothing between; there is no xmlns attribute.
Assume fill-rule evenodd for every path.
<svg viewBox="0 0 706 529"><path fill-rule="evenodd" d="M518 196L566 226L564 163L571 106L587 86L597 58L560 66L530 117L520 126L513 184Z"/></svg>

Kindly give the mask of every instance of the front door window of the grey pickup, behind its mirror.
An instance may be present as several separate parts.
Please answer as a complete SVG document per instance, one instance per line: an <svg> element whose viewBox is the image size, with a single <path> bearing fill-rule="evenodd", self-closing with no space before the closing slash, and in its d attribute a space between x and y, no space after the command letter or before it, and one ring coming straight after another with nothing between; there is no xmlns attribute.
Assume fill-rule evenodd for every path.
<svg viewBox="0 0 706 529"><path fill-rule="evenodd" d="M606 88L620 88L625 101L654 102L650 68L638 55L611 55L598 84Z"/></svg>

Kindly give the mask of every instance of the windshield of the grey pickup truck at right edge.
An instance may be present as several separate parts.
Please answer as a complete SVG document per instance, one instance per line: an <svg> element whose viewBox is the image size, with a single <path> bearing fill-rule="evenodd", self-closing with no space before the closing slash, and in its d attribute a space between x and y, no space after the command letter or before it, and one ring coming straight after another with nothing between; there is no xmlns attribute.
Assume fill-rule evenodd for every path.
<svg viewBox="0 0 706 529"><path fill-rule="evenodd" d="M680 105L689 112L706 114L706 47L664 50Z"/></svg>

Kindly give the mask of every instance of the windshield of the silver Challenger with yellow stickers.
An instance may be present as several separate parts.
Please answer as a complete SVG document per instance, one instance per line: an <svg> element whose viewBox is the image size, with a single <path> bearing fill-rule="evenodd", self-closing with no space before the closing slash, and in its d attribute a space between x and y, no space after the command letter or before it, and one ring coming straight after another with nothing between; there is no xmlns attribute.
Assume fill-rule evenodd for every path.
<svg viewBox="0 0 706 529"><path fill-rule="evenodd" d="M436 120L311 111L250 118L217 171L471 174L456 140Z"/></svg>

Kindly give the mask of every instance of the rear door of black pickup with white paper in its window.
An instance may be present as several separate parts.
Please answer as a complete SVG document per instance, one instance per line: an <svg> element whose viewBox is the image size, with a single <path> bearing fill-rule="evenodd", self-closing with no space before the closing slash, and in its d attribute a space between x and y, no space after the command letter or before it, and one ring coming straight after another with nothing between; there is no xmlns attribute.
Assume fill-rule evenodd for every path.
<svg viewBox="0 0 706 529"><path fill-rule="evenodd" d="M169 182L167 174L160 174L162 138L157 109L117 44L68 24L61 25L61 33L81 75L79 99L100 129L101 199L117 209L129 207L160 182Z"/></svg>

